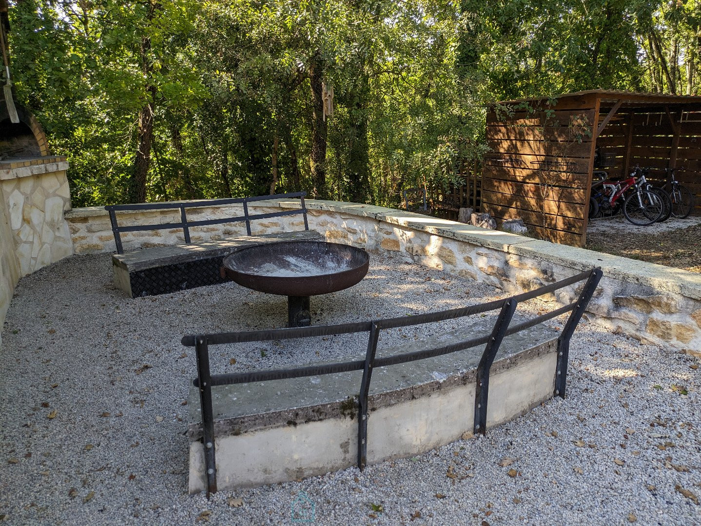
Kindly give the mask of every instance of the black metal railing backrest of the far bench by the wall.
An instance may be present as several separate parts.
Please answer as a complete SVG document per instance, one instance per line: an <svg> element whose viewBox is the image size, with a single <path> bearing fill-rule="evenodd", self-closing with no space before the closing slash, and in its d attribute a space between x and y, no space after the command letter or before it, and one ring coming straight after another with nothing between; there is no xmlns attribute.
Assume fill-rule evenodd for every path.
<svg viewBox="0 0 701 526"><path fill-rule="evenodd" d="M185 236L185 243L190 243L190 228L191 227L203 227L207 224L222 224L222 223L235 223L240 221L246 222L246 233L251 235L251 221L259 219L268 219L270 217L283 217L285 215L304 215L304 229L309 229L309 224L307 222L307 210L304 205L304 196L306 196L306 191L297 191L292 194L273 194L270 196L256 196L256 197L243 197L243 198L224 198L224 199L200 199L199 201L172 201L170 203L137 203L131 205L107 205L104 207L105 210L109 212L109 221L112 225L112 234L114 234L114 242L117 246L117 253L123 254L124 250L122 248L122 238L121 232L138 232L144 230L163 230L172 228L182 228L183 234ZM271 199L279 198L299 198L301 208L299 210L283 210L281 212L271 212L268 214L249 214L247 203L253 203L255 201L269 201ZM212 220L200 220L200 221L189 221L187 219L187 214L185 210L187 208L199 208L203 206L217 206L217 205L233 205L233 204L243 204L243 215L231 216L231 217L217 217L217 219ZM117 212L136 212L139 210L180 210L180 221L171 223L158 223L158 224L139 224L132 225L128 227L120 227L117 222L116 213Z"/></svg>

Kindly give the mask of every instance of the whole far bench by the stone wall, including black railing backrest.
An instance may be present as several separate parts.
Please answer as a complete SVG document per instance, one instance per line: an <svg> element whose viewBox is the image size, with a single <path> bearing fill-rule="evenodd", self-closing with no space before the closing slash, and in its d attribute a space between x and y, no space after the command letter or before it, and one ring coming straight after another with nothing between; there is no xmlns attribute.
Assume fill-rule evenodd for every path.
<svg viewBox="0 0 701 526"><path fill-rule="evenodd" d="M138 203L135 205L108 205L109 220L117 249L112 257L114 283L131 297L168 294L178 290L186 290L203 285L215 285L229 281L229 278L219 274L222 260L236 248L244 245L273 243L275 241L320 239L322 236L309 230L306 208L304 206L306 192L294 194L277 194L247 198L206 199L200 201L172 201L169 203ZM273 213L249 214L247 203L272 201L280 198L299 198L299 210L280 210ZM187 210L203 210L203 207L216 205L242 205L243 213L227 217L210 217L205 220L189 220ZM142 212L177 212L179 221L156 224L118 223L117 213ZM304 231L288 231L277 234L252 236L251 221L301 214L304 216ZM133 222L133 217L132 217ZM137 223L139 221L137 220ZM219 241L192 243L190 228L205 227L213 224L244 222L247 236L233 236ZM182 245L165 245L149 247L125 254L123 253L121 233L137 231L182 229L185 243Z"/></svg>

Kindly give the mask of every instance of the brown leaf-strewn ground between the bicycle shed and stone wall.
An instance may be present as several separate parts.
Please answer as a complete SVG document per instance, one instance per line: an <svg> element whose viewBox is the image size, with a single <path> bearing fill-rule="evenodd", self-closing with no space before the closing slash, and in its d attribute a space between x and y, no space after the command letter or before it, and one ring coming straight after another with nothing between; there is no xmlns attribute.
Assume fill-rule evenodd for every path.
<svg viewBox="0 0 701 526"><path fill-rule="evenodd" d="M701 272L701 218L674 229L674 224L630 228L620 220L594 222L587 229L587 248L650 263ZM688 222L680 224L686 225Z"/></svg>

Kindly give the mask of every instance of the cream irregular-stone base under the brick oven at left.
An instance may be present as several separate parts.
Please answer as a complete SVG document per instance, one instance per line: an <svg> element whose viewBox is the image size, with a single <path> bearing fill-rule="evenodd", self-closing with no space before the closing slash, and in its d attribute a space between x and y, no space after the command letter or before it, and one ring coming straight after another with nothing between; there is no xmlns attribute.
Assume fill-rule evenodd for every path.
<svg viewBox="0 0 701 526"><path fill-rule="evenodd" d="M68 163L36 158L23 164L0 166L0 346L19 279L73 253L64 218L71 208Z"/></svg>

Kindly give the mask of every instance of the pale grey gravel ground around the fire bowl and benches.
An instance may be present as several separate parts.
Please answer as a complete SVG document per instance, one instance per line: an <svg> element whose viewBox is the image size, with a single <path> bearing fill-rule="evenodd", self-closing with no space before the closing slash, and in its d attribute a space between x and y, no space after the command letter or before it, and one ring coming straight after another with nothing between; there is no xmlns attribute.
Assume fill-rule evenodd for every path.
<svg viewBox="0 0 701 526"><path fill-rule="evenodd" d="M0 519L10 524L287 524L301 492L315 524L701 523L698 360L588 323L572 340L568 397L486 438L363 473L190 496L182 404L195 365L179 339L279 327L285 300L233 284L129 299L109 267L109 255L71 257L15 290L0 351ZM312 302L315 323L338 323L494 297L372 255L360 285ZM306 363L355 342L324 344L224 349L213 367Z"/></svg>

